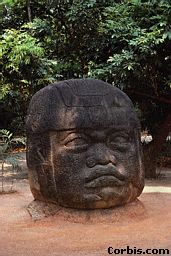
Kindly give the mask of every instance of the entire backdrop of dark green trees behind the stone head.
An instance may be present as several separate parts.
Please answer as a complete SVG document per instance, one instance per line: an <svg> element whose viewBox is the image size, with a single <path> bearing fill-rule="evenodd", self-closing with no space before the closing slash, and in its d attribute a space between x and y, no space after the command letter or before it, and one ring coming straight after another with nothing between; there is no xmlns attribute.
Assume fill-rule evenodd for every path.
<svg viewBox="0 0 171 256"><path fill-rule="evenodd" d="M24 133L32 95L49 83L95 77L133 100L153 141L147 177L171 131L170 0L2 0L0 128Z"/></svg>

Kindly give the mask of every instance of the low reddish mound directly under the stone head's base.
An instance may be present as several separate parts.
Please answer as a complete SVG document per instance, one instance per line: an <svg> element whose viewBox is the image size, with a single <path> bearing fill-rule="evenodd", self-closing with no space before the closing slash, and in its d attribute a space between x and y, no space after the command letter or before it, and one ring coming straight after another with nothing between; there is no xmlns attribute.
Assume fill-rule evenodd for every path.
<svg viewBox="0 0 171 256"><path fill-rule="evenodd" d="M58 220L74 223L118 223L120 225L137 222L147 217L146 209L138 199L123 206L95 210L70 209L34 200L27 209L33 220L54 216Z"/></svg>

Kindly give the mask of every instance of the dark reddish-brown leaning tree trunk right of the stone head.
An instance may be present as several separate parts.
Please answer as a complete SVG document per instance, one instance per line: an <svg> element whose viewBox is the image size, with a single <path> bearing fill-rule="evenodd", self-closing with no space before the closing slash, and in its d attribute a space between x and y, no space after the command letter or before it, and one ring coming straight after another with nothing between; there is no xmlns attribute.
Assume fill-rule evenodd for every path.
<svg viewBox="0 0 171 256"><path fill-rule="evenodd" d="M146 178L156 177L157 157L161 152L162 146L171 131L171 109L169 109L165 121L160 126L159 131L153 136L151 143L143 148L144 152L144 167Z"/></svg>

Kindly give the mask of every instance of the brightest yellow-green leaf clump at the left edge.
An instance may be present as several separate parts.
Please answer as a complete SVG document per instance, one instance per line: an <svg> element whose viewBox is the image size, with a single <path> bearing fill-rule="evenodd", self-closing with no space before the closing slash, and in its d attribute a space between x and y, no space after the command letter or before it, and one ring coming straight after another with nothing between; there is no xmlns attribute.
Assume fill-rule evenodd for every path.
<svg viewBox="0 0 171 256"><path fill-rule="evenodd" d="M22 72L23 66L44 57L40 43L25 31L5 30L0 42L0 59L6 58L6 69Z"/></svg>

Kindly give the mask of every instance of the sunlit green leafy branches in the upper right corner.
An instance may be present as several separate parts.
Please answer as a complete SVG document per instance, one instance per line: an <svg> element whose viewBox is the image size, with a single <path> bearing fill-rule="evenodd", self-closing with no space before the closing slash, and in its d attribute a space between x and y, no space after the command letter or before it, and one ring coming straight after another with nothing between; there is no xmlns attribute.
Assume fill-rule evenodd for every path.
<svg viewBox="0 0 171 256"><path fill-rule="evenodd" d="M107 7L103 15L105 19L101 22L99 31L106 35L107 41L110 41L108 59L100 64L100 73L101 66L105 67L104 79L112 80L112 73L113 80L117 78L115 81L118 85L123 82L132 83L133 81L130 81L132 75L135 81L141 80L142 84L149 78L156 88L159 82L162 86L169 84L171 58L169 1L124 1ZM165 69L162 70L162 65L167 66L167 71L163 81L160 81ZM92 70L90 74L96 76L99 70L97 65L94 67L90 69ZM107 68L108 74L106 74ZM150 69L153 69L156 75L160 71L157 77L159 81L156 81L156 84L152 81L154 73L148 72Z"/></svg>

